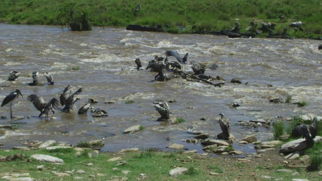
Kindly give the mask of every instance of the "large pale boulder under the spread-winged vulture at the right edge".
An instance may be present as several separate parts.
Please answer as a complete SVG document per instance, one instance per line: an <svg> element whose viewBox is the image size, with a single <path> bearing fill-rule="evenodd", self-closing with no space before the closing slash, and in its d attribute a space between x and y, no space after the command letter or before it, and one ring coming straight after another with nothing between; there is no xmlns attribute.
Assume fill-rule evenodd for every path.
<svg viewBox="0 0 322 181"><path fill-rule="evenodd" d="M314 142L321 142L322 137L316 136L314 138ZM304 138L297 139L294 141L287 142L281 146L280 152L285 153L285 152L294 152L294 151L299 151L304 148L309 147L310 145L305 141Z"/></svg>

